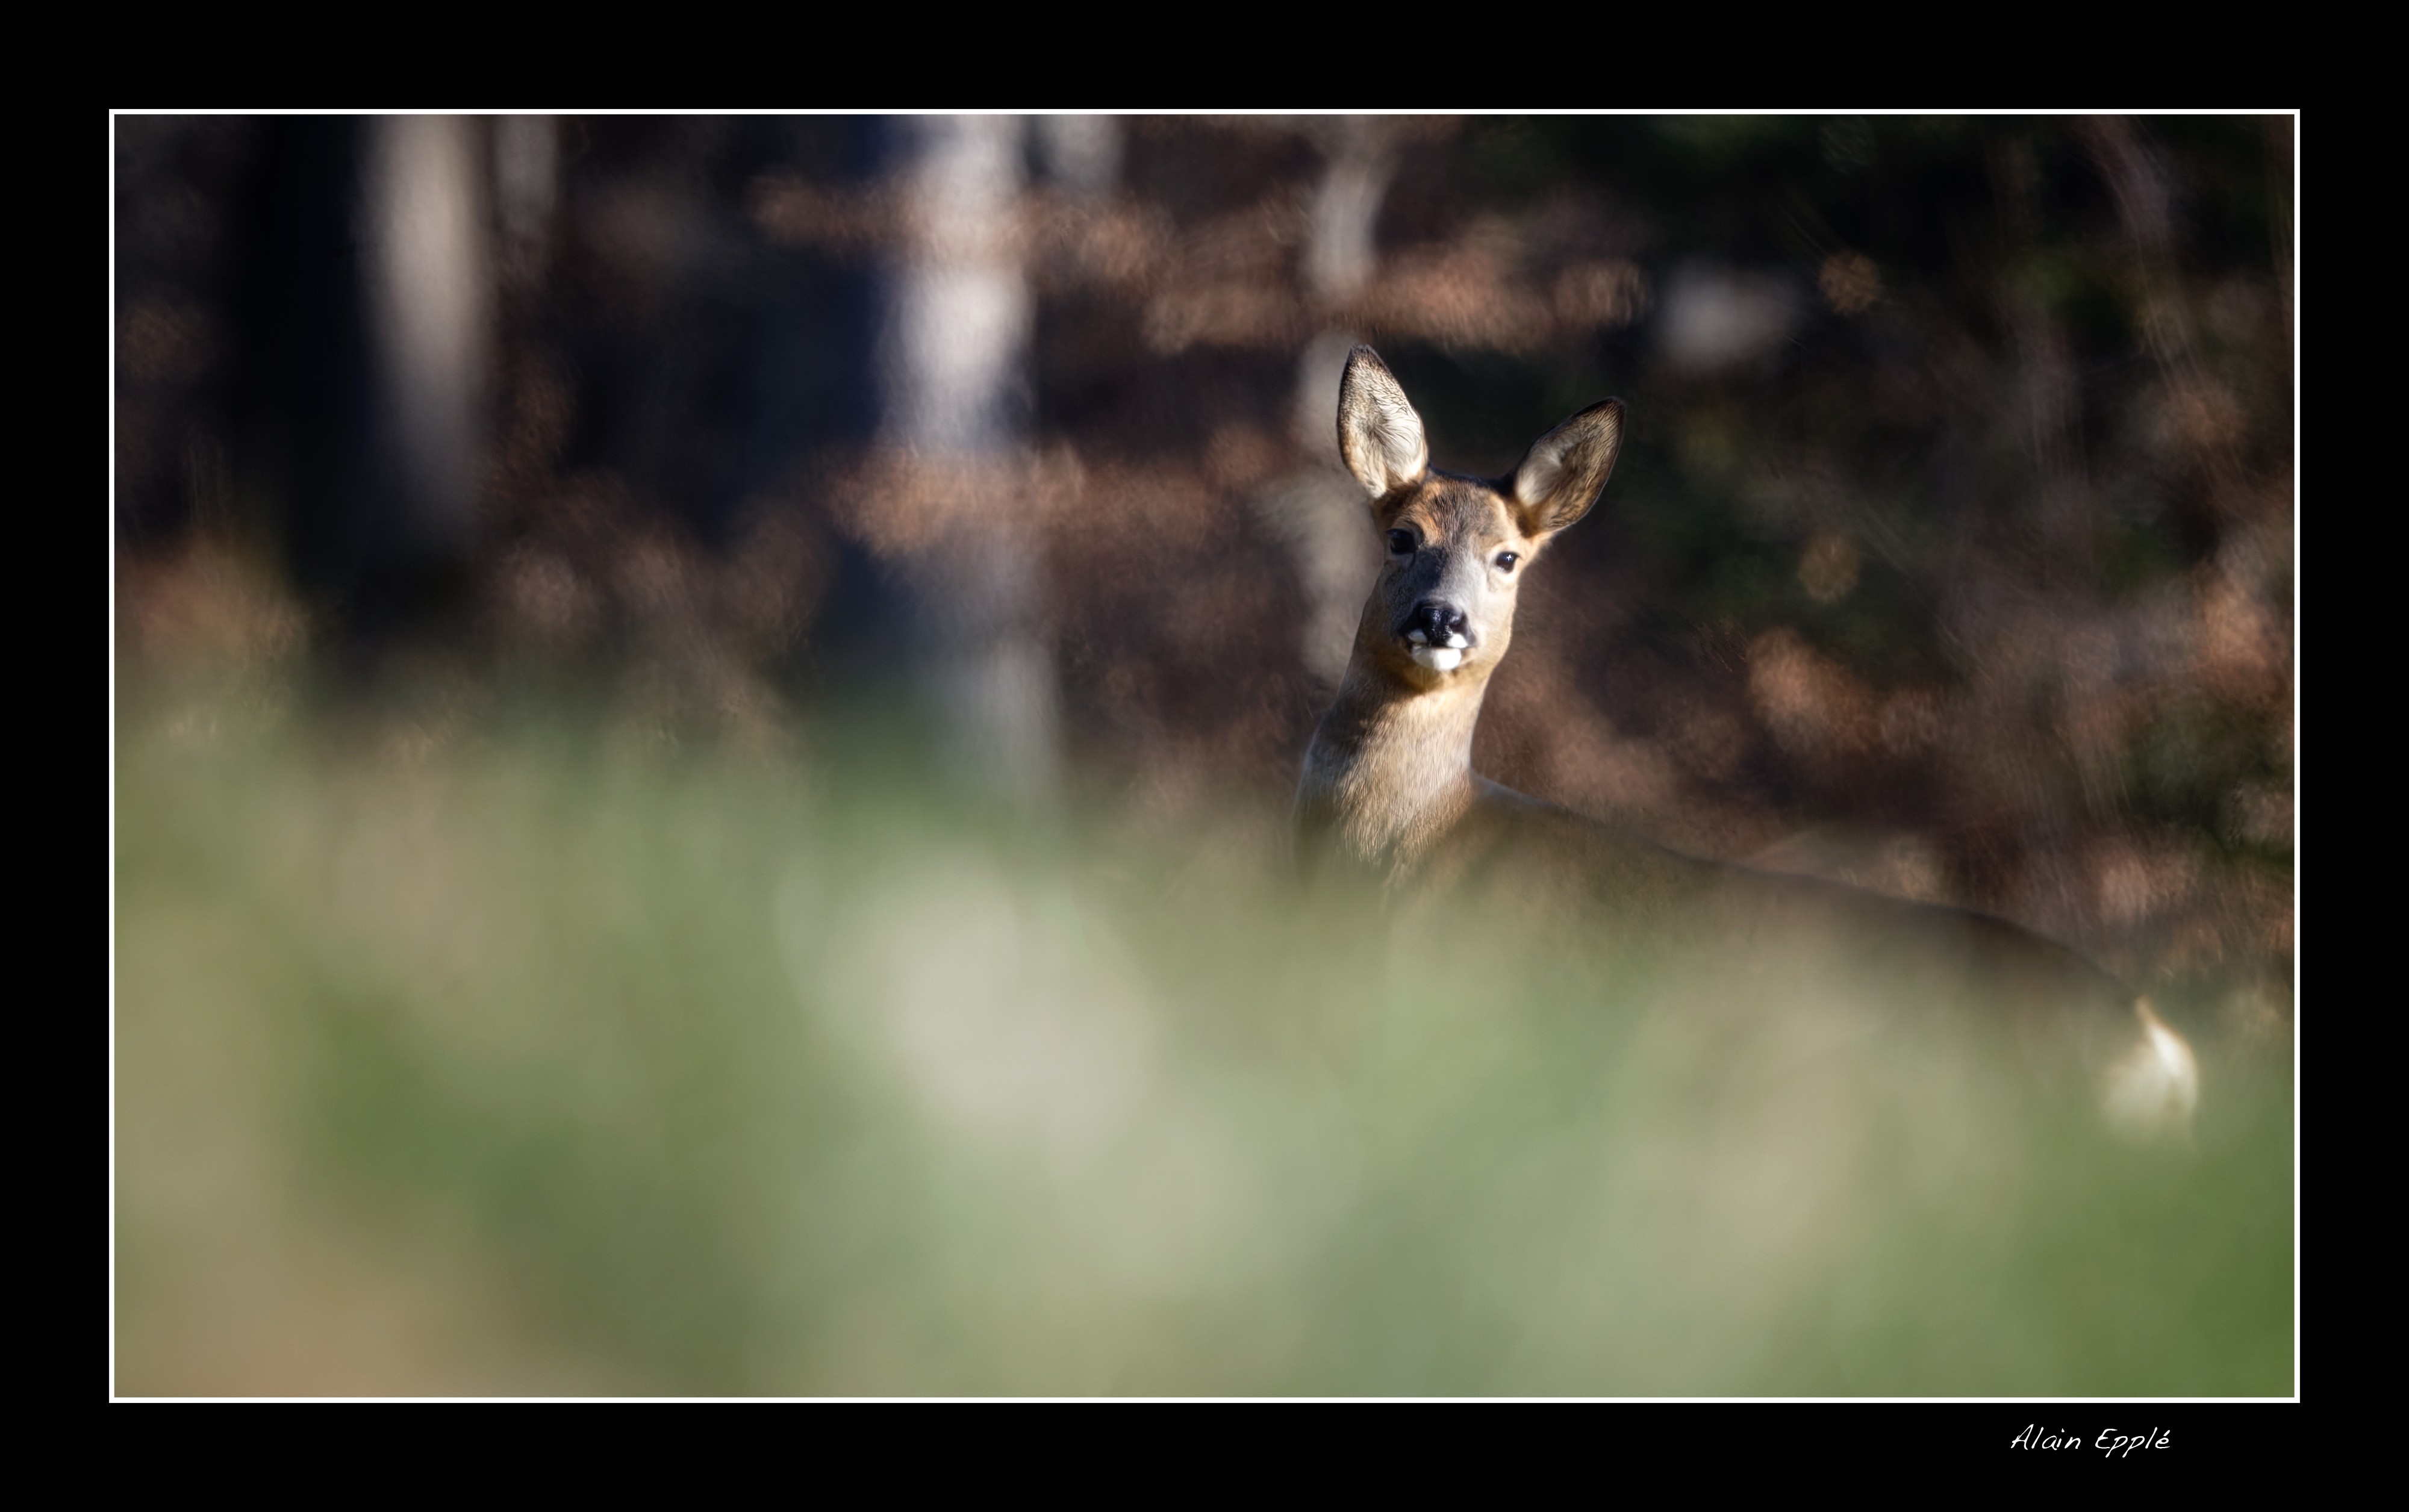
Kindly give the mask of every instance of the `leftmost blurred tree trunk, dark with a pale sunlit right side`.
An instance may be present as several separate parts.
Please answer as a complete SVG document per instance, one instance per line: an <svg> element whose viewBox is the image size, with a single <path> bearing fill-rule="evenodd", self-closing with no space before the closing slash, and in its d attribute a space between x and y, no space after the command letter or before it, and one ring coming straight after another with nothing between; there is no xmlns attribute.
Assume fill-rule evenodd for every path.
<svg viewBox="0 0 2409 1512"><path fill-rule="evenodd" d="M458 590L491 306L482 132L265 125L241 289L241 474L296 580L376 636Z"/></svg>

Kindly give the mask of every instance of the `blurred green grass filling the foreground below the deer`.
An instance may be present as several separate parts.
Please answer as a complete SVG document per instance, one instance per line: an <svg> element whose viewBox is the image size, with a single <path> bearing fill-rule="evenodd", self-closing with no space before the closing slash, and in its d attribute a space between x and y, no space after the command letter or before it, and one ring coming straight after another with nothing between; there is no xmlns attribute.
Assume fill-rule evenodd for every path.
<svg viewBox="0 0 2409 1512"><path fill-rule="evenodd" d="M2293 1389L2284 1059L2130 1148L879 770L130 696L118 1389Z"/></svg>

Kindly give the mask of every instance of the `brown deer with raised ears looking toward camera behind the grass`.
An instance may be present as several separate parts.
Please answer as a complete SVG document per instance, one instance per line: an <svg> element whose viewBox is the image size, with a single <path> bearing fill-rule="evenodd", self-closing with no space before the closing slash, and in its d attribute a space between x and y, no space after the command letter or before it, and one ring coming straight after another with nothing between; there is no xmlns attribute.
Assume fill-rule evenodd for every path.
<svg viewBox="0 0 2409 1512"><path fill-rule="evenodd" d="M1896 994L2004 1021L2028 1057L2069 1059L2105 1120L2187 1139L2199 1064L2146 997L2074 949L2007 920L1836 881L1691 857L1472 770L1472 732L1513 643L1515 592L1549 542L1604 496L1621 400L1539 436L1506 477L1431 467L1421 417L1371 347L1339 380L1339 457L1363 486L1385 561L1296 792L1308 872L1383 888L1522 886L1609 932L1725 956L1816 946ZM1768 978L1778 980L1778 978Z"/></svg>

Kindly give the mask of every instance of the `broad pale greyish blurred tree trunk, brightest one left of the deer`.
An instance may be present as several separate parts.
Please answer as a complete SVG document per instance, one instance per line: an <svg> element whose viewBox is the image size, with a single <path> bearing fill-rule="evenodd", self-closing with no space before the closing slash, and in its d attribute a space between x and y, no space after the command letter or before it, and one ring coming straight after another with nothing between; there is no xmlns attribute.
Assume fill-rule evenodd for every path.
<svg viewBox="0 0 2409 1512"><path fill-rule="evenodd" d="M944 525L906 556L920 681L947 758L980 785L1043 797L1058 778L1058 691L1038 534L1019 498L1031 291L1017 238L1024 123L896 120L903 243L879 332L879 441Z"/></svg>

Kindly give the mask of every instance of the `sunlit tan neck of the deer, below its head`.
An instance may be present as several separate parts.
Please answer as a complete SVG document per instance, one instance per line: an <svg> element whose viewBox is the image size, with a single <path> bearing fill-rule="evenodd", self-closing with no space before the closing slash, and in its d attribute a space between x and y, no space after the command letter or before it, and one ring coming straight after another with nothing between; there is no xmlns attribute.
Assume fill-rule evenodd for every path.
<svg viewBox="0 0 2409 1512"><path fill-rule="evenodd" d="M1472 807L1486 691L1486 674L1416 689L1356 652L1306 751L1301 838L1366 864L1419 857Z"/></svg>

